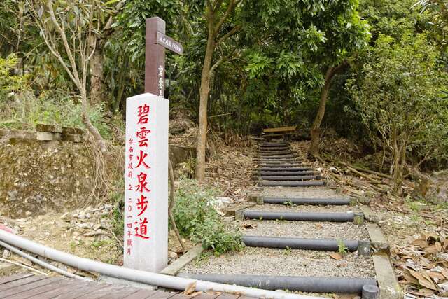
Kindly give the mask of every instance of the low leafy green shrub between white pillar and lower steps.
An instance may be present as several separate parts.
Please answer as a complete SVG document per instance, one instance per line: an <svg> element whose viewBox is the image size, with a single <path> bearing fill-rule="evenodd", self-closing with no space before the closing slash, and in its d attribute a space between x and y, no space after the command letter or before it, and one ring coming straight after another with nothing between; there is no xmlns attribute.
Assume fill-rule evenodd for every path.
<svg viewBox="0 0 448 299"><path fill-rule="evenodd" d="M174 218L184 237L202 242L205 249L216 254L243 248L241 235L229 231L213 207L216 190L204 188L189 179L181 179L176 192Z"/></svg>

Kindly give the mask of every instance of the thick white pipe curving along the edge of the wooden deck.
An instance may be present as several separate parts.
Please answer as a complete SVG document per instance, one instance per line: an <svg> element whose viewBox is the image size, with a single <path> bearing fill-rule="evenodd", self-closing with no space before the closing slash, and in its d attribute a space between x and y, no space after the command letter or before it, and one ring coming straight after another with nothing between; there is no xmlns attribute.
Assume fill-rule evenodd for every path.
<svg viewBox="0 0 448 299"><path fill-rule="evenodd" d="M0 240L17 246L21 249L55 260L59 263L64 263L71 267L76 267L83 271L97 272L110 277L118 279L125 279L130 281L137 281L142 284L151 284L153 286L162 286L164 288L172 288L175 290L185 290L188 286L196 284L195 291L217 291L225 293L238 293L248 297L258 298L274 298L274 299L323 299L320 297L311 297L306 295L297 295L293 293L283 293L276 291L266 291L258 288L247 288L244 286L231 286L228 284L218 284L210 281L202 281L196 279L187 279L182 277L174 277L153 272L146 272L141 270L134 270L126 267L119 267L117 265L109 265L88 258L80 258L72 254L65 253L48 246L38 244L13 235L10 232L0 229Z"/></svg>

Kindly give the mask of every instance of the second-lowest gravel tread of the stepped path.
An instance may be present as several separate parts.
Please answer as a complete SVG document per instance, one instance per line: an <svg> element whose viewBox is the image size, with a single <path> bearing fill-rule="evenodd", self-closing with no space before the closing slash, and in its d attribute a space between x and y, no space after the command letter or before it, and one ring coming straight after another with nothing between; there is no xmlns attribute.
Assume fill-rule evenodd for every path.
<svg viewBox="0 0 448 299"><path fill-rule="evenodd" d="M244 228L248 225L253 228ZM364 225L354 225L349 222L246 220L241 226L244 235L369 240L369 234Z"/></svg>

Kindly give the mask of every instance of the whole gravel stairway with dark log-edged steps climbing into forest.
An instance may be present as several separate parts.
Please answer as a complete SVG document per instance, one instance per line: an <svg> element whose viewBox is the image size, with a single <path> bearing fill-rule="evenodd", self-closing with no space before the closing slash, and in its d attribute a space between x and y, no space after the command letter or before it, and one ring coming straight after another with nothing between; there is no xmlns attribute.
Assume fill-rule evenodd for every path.
<svg viewBox="0 0 448 299"><path fill-rule="evenodd" d="M255 205L236 211L246 249L209 256L180 275L270 290L352 293L351 298L365 288L363 298L375 298L370 238L356 202L326 187L285 142L261 142L255 162L253 178L262 191L251 197ZM345 254L332 258L335 251Z"/></svg>

